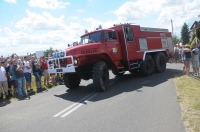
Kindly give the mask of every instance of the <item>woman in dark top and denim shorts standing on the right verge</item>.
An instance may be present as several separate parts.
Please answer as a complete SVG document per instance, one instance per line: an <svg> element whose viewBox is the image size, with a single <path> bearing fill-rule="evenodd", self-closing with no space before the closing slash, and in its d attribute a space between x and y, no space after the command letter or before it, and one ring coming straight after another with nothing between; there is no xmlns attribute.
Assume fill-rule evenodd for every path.
<svg viewBox="0 0 200 132"><path fill-rule="evenodd" d="M185 65L186 75L189 76L190 63L191 63L191 60L192 60L192 52L191 52L191 49L190 49L189 45L185 46L185 48L183 50L183 53L182 53L182 57L183 57L184 65Z"/></svg>

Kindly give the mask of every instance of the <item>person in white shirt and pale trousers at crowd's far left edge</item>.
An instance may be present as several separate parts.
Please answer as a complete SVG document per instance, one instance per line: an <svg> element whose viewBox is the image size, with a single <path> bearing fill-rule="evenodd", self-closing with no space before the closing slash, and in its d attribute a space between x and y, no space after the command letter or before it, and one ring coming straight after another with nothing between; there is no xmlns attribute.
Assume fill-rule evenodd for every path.
<svg viewBox="0 0 200 132"><path fill-rule="evenodd" d="M6 76L6 70L4 68L4 62L0 62L0 99L3 99L3 91L8 98L8 82Z"/></svg>

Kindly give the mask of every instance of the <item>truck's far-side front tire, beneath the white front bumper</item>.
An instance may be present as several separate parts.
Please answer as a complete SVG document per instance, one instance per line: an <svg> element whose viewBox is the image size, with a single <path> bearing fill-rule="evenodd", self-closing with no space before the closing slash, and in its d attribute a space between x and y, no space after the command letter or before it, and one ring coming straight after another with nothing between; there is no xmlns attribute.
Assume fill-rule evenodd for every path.
<svg viewBox="0 0 200 132"><path fill-rule="evenodd" d="M69 89L74 89L79 87L81 79L77 74L64 74L64 84Z"/></svg>

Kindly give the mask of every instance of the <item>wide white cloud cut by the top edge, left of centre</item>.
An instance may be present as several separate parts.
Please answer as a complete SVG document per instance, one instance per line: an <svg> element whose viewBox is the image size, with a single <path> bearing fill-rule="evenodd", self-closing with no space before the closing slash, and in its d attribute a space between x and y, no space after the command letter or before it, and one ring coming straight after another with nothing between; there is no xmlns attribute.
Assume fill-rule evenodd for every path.
<svg viewBox="0 0 200 132"><path fill-rule="evenodd" d="M62 2L61 0L29 0L31 7L39 7L45 9L65 8L70 5L69 2Z"/></svg>

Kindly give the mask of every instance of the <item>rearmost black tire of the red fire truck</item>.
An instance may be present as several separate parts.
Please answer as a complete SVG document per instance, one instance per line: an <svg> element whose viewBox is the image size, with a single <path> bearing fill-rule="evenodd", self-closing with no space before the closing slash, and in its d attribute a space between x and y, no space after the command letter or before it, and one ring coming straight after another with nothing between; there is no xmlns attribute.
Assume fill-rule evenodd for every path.
<svg viewBox="0 0 200 132"><path fill-rule="evenodd" d="M164 72L166 69L166 57L163 53L156 54L155 58L155 71L158 73Z"/></svg>

